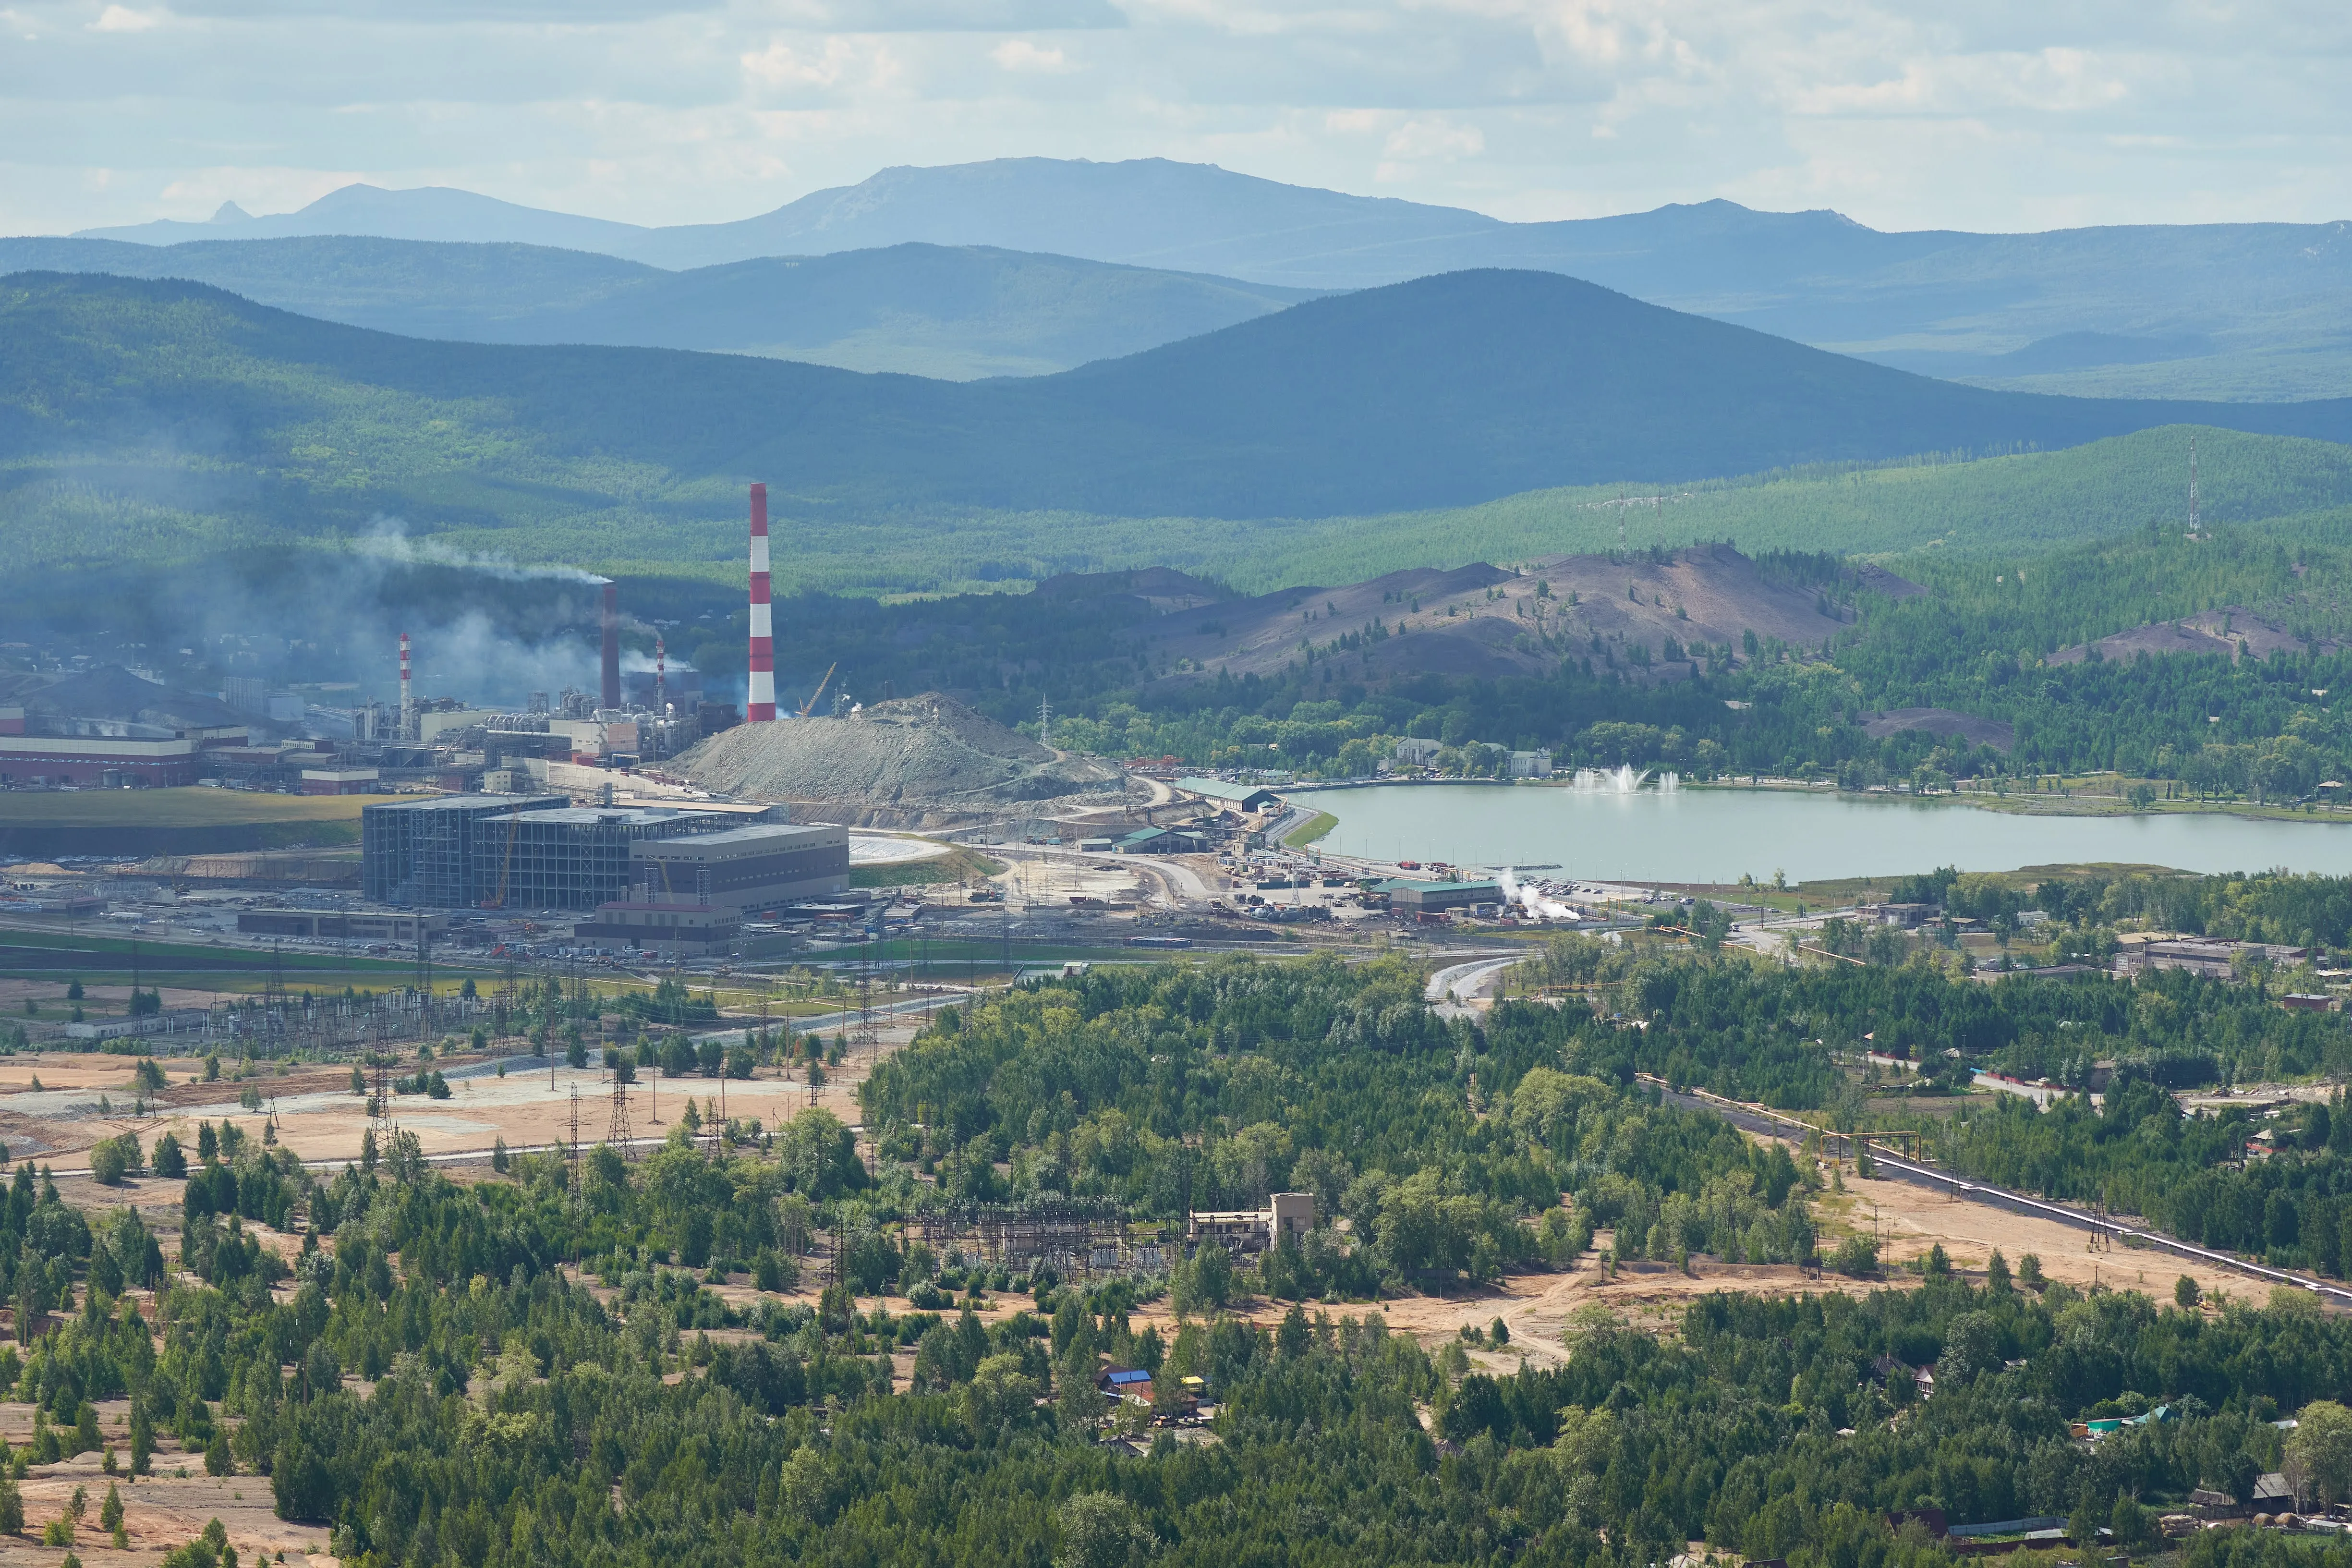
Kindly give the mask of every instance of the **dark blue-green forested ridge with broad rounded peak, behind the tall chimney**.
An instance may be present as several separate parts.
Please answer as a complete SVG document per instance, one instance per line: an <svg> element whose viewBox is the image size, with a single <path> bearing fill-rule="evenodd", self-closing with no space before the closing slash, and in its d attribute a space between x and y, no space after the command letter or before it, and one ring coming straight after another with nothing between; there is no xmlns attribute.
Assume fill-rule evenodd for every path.
<svg viewBox="0 0 2352 1568"><path fill-rule="evenodd" d="M729 355L395 339L186 282L0 287L0 442L153 465L230 512L499 524L616 489L696 510L741 480L858 508L1317 517L1543 484L1910 451L2067 447L2157 423L2352 435L2352 402L2183 404L1950 386L1538 273L1310 301L1063 376L946 386ZM635 465L630 473L628 465ZM89 468L82 470L87 480Z"/></svg>

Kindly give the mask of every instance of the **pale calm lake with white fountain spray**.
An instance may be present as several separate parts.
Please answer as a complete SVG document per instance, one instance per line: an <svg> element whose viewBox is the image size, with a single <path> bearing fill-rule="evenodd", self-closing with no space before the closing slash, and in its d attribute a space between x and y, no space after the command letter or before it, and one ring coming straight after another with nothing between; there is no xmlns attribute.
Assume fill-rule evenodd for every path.
<svg viewBox="0 0 2352 1568"><path fill-rule="evenodd" d="M1957 865L2119 860L2187 872L2352 875L2352 823L2234 816L2016 816L1959 802L1795 790L1583 792L1545 785L1291 790L1329 811L1322 846L1374 860L1557 863L1566 877L1771 882L1875 877Z"/></svg>

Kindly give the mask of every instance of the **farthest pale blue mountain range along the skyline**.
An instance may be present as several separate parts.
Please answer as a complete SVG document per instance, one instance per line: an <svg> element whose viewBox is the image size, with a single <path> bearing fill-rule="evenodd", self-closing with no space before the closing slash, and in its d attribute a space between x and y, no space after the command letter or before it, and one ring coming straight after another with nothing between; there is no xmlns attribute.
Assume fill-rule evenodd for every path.
<svg viewBox="0 0 2352 1568"><path fill-rule="evenodd" d="M1018 158L884 169L736 223L640 228L466 190L348 186L292 214L80 237L179 244L299 235L539 244L673 270L915 242L1284 289L1529 268L2009 388L2230 400L2352 393L2352 223L1879 233L1835 212L1771 214L1733 202L1505 223L1204 165ZM927 296L898 303L917 317L938 315Z"/></svg>

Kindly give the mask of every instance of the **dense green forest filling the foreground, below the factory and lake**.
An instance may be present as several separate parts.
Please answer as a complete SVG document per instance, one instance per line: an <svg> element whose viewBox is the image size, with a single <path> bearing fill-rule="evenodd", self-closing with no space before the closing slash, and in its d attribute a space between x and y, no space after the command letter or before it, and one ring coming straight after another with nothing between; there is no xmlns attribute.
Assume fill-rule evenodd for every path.
<svg viewBox="0 0 2352 1568"><path fill-rule="evenodd" d="M2260 919L2296 898L2213 889L2211 907ZM1828 1063L1860 1025L1971 1056L2065 1018L2157 1058L2209 1037L2267 1039L2281 1063L2300 1048L2244 985L1985 987L1924 964L1780 973L1599 947L1550 961L1606 1006L1508 1001L1482 1023L1435 1018L1397 961L1242 957L1004 992L873 1074L873 1171L823 1112L724 1152L680 1126L642 1161L597 1147L574 1175L515 1157L466 1182L409 1135L313 1173L207 1124L193 1150L155 1150L191 1173L167 1255L136 1208L92 1225L24 1166L0 1199L16 1305L0 1396L35 1415L0 1453L0 1528L71 1544L19 1483L101 1446L103 1399L129 1401L134 1500L167 1462L256 1476L365 1568L1637 1568L1693 1540L1792 1568L1933 1568L1945 1549L1889 1516L2056 1516L2140 1556L2192 1488L2249 1497L2284 1465L2352 1495L2352 1455L2317 1436L2352 1425L2333 1403L2352 1394L2352 1321L2296 1293L2159 1305L2049 1281L2032 1258L1962 1272L1931 1253L1860 1295L1712 1293L1665 1333L1585 1314L1515 1371L1468 1354L1468 1331L1392 1333L1388 1300L1597 1244L1604 1267L1823 1251L1811 1159L1663 1105L1632 1086L1644 1063L1835 1105ZM2178 1126L2152 1079L2124 1081L2100 1114L1992 1107L1947 1147L2065 1192L2100 1168L2159 1182L2166 1161L2237 1180L2237 1121ZM2317 1197L2345 1126L2324 1112L2244 1178ZM1272 1190L1317 1194L1303 1241L1256 1262L1204 1246L1169 1279L1007 1276L908 1225L1040 1201L1150 1222ZM301 1234L301 1253L280 1260L249 1225ZM1835 1262L1877 1267L1853 1244ZM823 1281L814 1305L781 1295L802 1281ZM1174 1316L1138 1324L1152 1302ZM1505 1349L1503 1331L1475 1340ZM1108 1401L1103 1366L1152 1373L1152 1403ZM1207 1427L1155 1425L1185 1387L1214 1406ZM2098 1443L2067 1429L2157 1406ZM2298 1432L2272 1425L2293 1413ZM186 1458L158 1458L169 1443ZM2343 1552L2218 1530L2180 1556L2340 1568ZM221 1537L172 1554L221 1561Z"/></svg>

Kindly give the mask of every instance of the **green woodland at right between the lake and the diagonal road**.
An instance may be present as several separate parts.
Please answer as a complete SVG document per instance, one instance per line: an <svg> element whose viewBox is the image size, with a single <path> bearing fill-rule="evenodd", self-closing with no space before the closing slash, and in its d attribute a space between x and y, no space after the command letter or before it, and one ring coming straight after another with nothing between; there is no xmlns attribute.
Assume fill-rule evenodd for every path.
<svg viewBox="0 0 2352 1568"><path fill-rule="evenodd" d="M1559 938L1545 973L1599 985L1639 1030L1585 1027L1571 1067L1630 1084L1653 1074L1820 1126L1910 1126L1950 1168L2072 1204L2140 1215L2157 1229L2277 1267L2352 1276L2352 1112L2340 1095L2263 1117L2246 1105L2185 1114L2173 1088L2340 1081L2352 1037L2338 1013L2286 1011L2319 987L2314 966L2352 947L2352 879L2336 877L1915 877L1896 898L2018 931L2051 914L2058 954L2112 952L2117 926L2192 931L2305 950L2232 978L2150 969L2138 978L1957 973L1933 936L1856 945L1865 964L1780 969L1748 957L1658 957ZM1832 931L1828 940L1837 943ZM1515 1009L1512 1009L1515 1011ZM1898 1100L1839 1063L1863 1048L1917 1065ZM1964 1095L1976 1072L2089 1088L2042 1112L2016 1095ZM2249 1159L2249 1150L2253 1157Z"/></svg>

